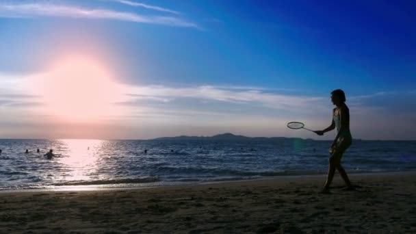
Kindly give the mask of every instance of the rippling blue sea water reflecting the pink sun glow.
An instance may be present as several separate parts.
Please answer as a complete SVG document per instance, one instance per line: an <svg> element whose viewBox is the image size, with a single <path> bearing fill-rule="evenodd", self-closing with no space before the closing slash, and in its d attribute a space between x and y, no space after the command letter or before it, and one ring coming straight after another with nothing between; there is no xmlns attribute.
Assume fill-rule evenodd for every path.
<svg viewBox="0 0 416 234"><path fill-rule="evenodd" d="M294 138L0 140L0 190L158 186L326 174L330 143ZM43 157L49 148L58 157ZM416 141L355 140L342 164L348 173L416 170Z"/></svg>

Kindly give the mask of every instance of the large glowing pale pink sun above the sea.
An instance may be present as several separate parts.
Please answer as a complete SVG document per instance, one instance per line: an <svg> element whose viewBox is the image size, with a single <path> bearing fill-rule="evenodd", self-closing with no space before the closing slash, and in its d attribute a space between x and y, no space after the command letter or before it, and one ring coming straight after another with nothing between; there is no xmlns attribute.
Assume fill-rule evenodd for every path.
<svg viewBox="0 0 416 234"><path fill-rule="evenodd" d="M112 116L122 96L105 66L87 56L58 60L37 86L47 112L66 120Z"/></svg>

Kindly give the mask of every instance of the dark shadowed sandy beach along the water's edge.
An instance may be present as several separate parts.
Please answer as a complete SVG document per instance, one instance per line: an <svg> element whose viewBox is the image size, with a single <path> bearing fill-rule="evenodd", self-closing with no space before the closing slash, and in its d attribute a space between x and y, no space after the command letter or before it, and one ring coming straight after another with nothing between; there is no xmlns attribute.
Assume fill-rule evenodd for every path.
<svg viewBox="0 0 416 234"><path fill-rule="evenodd" d="M416 173L0 193L0 233L416 233Z"/></svg>

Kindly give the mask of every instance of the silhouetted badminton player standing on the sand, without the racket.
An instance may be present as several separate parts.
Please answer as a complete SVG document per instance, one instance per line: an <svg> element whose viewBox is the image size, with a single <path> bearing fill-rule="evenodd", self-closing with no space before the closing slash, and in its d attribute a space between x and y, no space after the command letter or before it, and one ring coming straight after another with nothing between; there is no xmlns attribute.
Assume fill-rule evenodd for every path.
<svg viewBox="0 0 416 234"><path fill-rule="evenodd" d="M352 136L350 133L350 109L346 105L346 94L342 90L334 90L330 93L330 99L336 107L333 109L333 120L329 127L322 131L315 131L317 135L324 135L327 131L332 131L337 128L337 136L333 144L329 148L329 168L328 179L322 193L328 194L329 185L333 181L335 169L338 170L343 181L346 182L347 187L345 190L354 190L346 170L341 166L341 157L343 153L350 147L352 143Z"/></svg>

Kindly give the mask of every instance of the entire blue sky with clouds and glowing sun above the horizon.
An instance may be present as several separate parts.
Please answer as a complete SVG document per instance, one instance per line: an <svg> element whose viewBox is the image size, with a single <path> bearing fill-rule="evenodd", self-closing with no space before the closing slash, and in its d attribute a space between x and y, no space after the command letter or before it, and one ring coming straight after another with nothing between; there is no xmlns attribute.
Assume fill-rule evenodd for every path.
<svg viewBox="0 0 416 234"><path fill-rule="evenodd" d="M1 1L0 138L416 140L415 1Z"/></svg>

